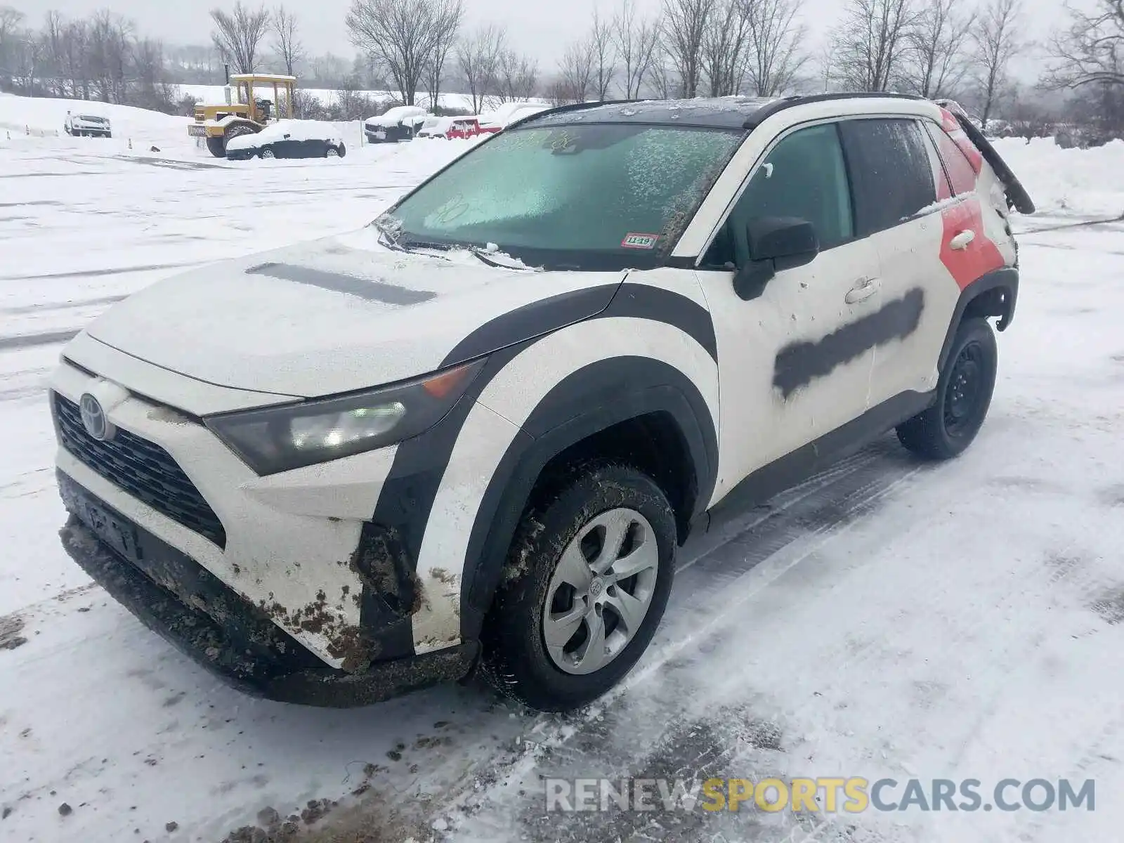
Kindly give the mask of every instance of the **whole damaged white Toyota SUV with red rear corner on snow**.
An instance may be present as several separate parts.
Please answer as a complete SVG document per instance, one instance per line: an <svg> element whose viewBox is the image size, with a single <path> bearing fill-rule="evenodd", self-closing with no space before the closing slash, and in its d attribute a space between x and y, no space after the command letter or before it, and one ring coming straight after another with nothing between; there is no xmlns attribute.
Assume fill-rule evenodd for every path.
<svg viewBox="0 0 1124 843"><path fill-rule="evenodd" d="M54 374L63 544L257 694L480 665L586 704L719 501L980 429L1034 208L954 110L554 109L359 232L157 283Z"/></svg>

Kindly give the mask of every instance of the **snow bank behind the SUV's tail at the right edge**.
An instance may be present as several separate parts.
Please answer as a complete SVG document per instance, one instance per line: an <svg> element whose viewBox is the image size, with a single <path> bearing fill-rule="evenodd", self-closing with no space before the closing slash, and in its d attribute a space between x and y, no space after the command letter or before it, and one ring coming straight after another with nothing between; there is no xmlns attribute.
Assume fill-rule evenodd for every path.
<svg viewBox="0 0 1124 843"><path fill-rule="evenodd" d="M991 142L1034 200L1039 212L1124 214L1124 140L1094 149L1063 149L1053 138Z"/></svg>

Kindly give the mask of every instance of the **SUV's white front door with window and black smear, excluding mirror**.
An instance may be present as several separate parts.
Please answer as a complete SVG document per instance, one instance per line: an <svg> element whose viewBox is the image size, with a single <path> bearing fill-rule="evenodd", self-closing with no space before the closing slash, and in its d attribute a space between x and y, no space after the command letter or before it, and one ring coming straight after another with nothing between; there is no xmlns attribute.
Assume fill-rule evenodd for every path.
<svg viewBox="0 0 1124 843"><path fill-rule="evenodd" d="M810 221L821 252L742 300L733 266L754 218ZM741 256L738 255L738 253ZM758 164L698 270L718 341L720 497L740 480L868 407L878 256L855 237L851 188L833 123L783 135Z"/></svg>

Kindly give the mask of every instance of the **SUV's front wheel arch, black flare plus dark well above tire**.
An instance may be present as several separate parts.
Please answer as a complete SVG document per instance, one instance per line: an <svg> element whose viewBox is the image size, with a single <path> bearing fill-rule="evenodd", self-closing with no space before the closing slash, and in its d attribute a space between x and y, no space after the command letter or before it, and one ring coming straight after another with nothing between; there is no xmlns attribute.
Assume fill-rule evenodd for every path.
<svg viewBox="0 0 1124 843"><path fill-rule="evenodd" d="M679 542L706 509L718 464L716 422L691 380L651 357L609 357L560 381L527 417L481 499L461 582L462 636L479 636L524 511L565 466L614 459L653 477Z"/></svg>

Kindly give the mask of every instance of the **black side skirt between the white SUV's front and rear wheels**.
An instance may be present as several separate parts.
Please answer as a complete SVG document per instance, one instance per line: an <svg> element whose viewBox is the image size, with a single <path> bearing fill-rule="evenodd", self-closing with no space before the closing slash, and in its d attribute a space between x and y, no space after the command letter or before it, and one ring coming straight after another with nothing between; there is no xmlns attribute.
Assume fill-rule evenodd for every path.
<svg viewBox="0 0 1124 843"><path fill-rule="evenodd" d="M833 463L861 450L887 430L927 409L935 400L935 390L900 392L877 407L871 407L842 427L761 466L696 518L691 525L691 533L705 533L709 529L710 518L715 514L749 509L786 489L798 486Z"/></svg>

